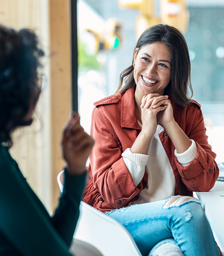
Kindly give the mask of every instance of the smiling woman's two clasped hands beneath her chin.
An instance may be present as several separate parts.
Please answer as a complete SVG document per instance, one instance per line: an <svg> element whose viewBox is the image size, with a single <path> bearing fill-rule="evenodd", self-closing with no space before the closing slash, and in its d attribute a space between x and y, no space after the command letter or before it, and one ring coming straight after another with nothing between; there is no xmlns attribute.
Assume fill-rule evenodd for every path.
<svg viewBox="0 0 224 256"><path fill-rule="evenodd" d="M161 125L166 130L175 122L168 96L159 94L145 95L142 98L140 107L142 129L146 129L152 135L155 134L157 125Z"/></svg>

